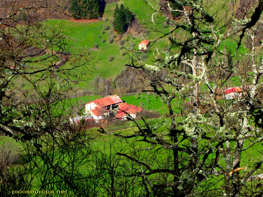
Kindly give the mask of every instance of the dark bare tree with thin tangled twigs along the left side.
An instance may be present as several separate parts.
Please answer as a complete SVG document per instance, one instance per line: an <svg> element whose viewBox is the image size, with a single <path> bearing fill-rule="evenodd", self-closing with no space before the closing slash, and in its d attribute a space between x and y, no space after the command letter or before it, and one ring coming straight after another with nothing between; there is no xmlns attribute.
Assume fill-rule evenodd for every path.
<svg viewBox="0 0 263 197"><path fill-rule="evenodd" d="M24 3L1 7L0 15L0 133L13 137L12 143L21 144L23 151L15 163L1 152L1 196L33 187L68 190L69 196L94 193L87 162L92 137L81 132L81 125L69 124L72 111L66 111L71 83L85 79L93 57L86 50L70 53L74 42L62 29L37 18L34 12L47 8L48 2ZM21 12L27 14L22 22L16 20Z"/></svg>

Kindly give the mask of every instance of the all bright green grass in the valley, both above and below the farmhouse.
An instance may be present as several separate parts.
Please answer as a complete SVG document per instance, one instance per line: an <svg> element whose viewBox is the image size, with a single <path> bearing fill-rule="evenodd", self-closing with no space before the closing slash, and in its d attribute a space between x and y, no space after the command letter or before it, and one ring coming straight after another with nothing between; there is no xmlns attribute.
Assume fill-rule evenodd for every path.
<svg viewBox="0 0 263 197"><path fill-rule="evenodd" d="M154 1L150 1L151 3L154 3ZM134 13L134 16L136 20L143 26L143 29L146 29L146 33L140 34L140 35L132 35L131 33L126 33L126 35L129 37L129 41L124 42L123 45L120 44L120 40L123 40L124 38L117 35L116 32L113 31L113 27L111 26L111 22L113 20L113 12L115 9L116 4L123 3L124 6L128 6L129 10ZM105 11L103 14L103 18L99 21L95 22L82 22L82 21L72 21L72 20L57 20L57 19L48 19L45 22L45 25L56 29L55 31L61 30L62 34L66 36L67 39L69 39L69 46L67 48L70 53L78 54L79 52L83 52L84 50L90 51L91 53L91 61L89 64L86 65L86 67L79 67L74 72L80 73L84 72L83 75L84 81L80 81L77 83L71 83L70 86L77 90L87 90L92 88L92 81L96 76L102 76L104 79L107 79L108 77L111 77L113 79L116 78L117 75L121 73L122 70L124 70L125 64L129 63L129 57L128 55L132 55L129 51L129 47L131 47L130 44L134 46L135 49L138 49L138 44L143 39L148 39L150 41L153 41L160 36L162 36L164 33L170 32L173 27L168 26L164 24L165 18L161 17L159 15L154 15L153 19L155 21L155 24L151 23L152 20L152 14L154 11L150 9L150 6L147 5L142 0L133 0L133 1L127 1L127 0L120 0L117 3L113 2L110 4L106 4ZM224 13L228 7L229 2L224 0L219 0L217 2L214 2L214 4L211 6L211 12L216 12L222 4L226 3L225 7L222 9L222 13ZM207 6L209 6L210 3L207 3ZM224 17L224 14L220 15L219 17ZM218 20L222 19L219 18ZM180 23L180 21L178 22ZM220 23L221 24L221 23ZM221 24L223 25L223 24ZM108 26L109 29L105 29L105 26ZM160 30L162 32L156 31ZM225 30L222 30L225 31ZM148 33L147 33L148 32ZM179 30L175 31L176 33L179 33ZM113 43L109 43L108 40L110 37L115 36L115 39ZM93 50L94 45L98 46L97 50ZM233 39L226 39L222 42L221 46L219 47L219 50L224 51L225 47L230 48L232 52L235 52L237 43L233 43ZM146 58L144 61L148 64L153 64L154 61L154 48L158 46L159 52L161 50L166 50L168 48L168 36L163 37L162 39L158 40L158 42L152 43L151 49L148 53L146 53ZM56 49L54 49L56 50ZM238 55L242 56L248 53L248 49L245 48L244 44L240 46L240 52ZM127 52L126 55L123 55L124 52ZM175 48L171 49L172 53L176 52ZM143 55L143 54L140 54ZM163 54L162 54L163 55ZM109 58L113 57L113 60L110 62ZM48 62L46 62L48 64ZM66 62L62 68L70 68L71 62ZM37 76L35 77L37 79ZM22 78L21 78L22 80ZM57 83L59 83L60 86L65 86L66 82L62 80L58 80ZM231 83L233 86L240 85L240 79L239 78L231 78ZM211 84L212 85L212 84ZM25 89L31 87L30 84L24 84ZM46 84L39 83L38 87L45 89ZM56 85L57 86L57 85ZM203 83L200 86L200 93L207 93L208 88ZM81 96L77 98L67 99L64 100L65 104L63 106L63 109L59 109L57 113L73 113L76 109L77 111L80 111L80 114L82 114L82 110L84 109L84 104L88 103L90 101L96 100L98 98L101 98L103 96L101 95L86 95ZM142 94L142 93L136 93L136 95L131 96L124 96L121 97L121 99L124 102L127 102L128 104L133 104L139 107L142 107L145 110L148 111L158 111L161 115L164 115L167 113L167 105L165 104L165 100L163 100L158 95L151 95L151 94ZM191 98L190 98L191 99ZM190 99L188 97L184 98L184 101L189 102ZM172 102L172 108L176 113L179 113L179 110L177 109L180 105L183 105L183 101L180 97L175 98ZM74 114L75 115L75 114ZM156 118L156 119L146 119L146 122L150 126L155 126L162 121L166 122L167 124L170 123L169 118ZM182 117L176 117L176 121L180 122L182 121ZM142 120L137 120L137 123L141 125L142 127L145 127L144 122ZM136 127L135 123L128 122L128 121L117 121L114 124L106 124L103 125L105 128L105 131L111 132L111 133L117 133L121 135L132 135L134 132L138 131L138 128ZM98 128L91 128L86 132L88 134L91 134L95 136L94 141L91 143L91 146L94 150L102 151L105 154L110 154L110 149L107 147L109 146L110 142L112 140L115 140L116 137L113 135L104 135L100 134L97 131ZM167 135L167 128L165 125L162 125L157 132L160 136ZM136 140L141 140L142 137L136 137ZM169 139L169 136L165 136L165 139ZM130 145L135 144L134 148L142 149L147 147L145 142L137 142L133 138L125 140L116 140L115 141L115 147L124 147L123 151L129 151L131 149ZM204 140L205 141L205 140ZM205 145L206 142L203 140L200 141L200 146ZM185 140L185 143L187 143L187 140ZM245 141L244 147L249 147L251 142L249 140ZM234 146L234 144L233 144ZM23 150L21 144L19 142L16 142L11 137L6 136L0 136L0 148L6 147L8 149L11 149L11 151L14 154L20 154ZM262 144L258 143L256 146L249 147L245 152L242 153L241 157L241 166L245 166L248 164L249 166L253 165L253 159L261 159L262 154L260 153L262 151ZM160 148L160 145L155 147L155 150ZM147 151L142 151L143 154L147 154ZM23 151L22 151L23 154ZM162 159L166 158L166 152L163 151ZM89 161L87 161L89 162ZM223 160L219 161L219 163L224 163ZM155 165L155 164L153 164ZM157 164L156 164L157 165ZM121 168L121 167L119 167ZM242 172L242 171L241 171ZM83 172L86 173L86 172Z"/></svg>

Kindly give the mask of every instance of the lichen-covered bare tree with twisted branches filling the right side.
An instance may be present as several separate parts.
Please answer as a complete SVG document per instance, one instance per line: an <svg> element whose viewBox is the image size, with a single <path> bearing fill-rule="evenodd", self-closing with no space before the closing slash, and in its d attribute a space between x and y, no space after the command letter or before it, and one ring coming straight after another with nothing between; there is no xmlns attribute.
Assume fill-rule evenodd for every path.
<svg viewBox="0 0 263 197"><path fill-rule="evenodd" d="M211 13L210 4L176 2L184 9L173 10L169 3L167 8L158 9L147 2L154 11L154 24L154 16L162 14L162 9L182 12L180 23L166 18L173 29L159 38L169 36L174 52L157 50L156 61L146 64L131 48L134 55L128 64L144 72L144 79L149 82L144 92L162 97L169 121L162 119L157 125L150 125L141 117L144 124L140 125L128 118L137 125L134 134L119 135L103 129L100 132L146 144L143 149L131 147L134 152L116 153L136 163L131 167L135 173L124 176L141 178L145 196L261 196L257 181L262 179L262 153L258 151L260 156L255 158L250 151L256 154L254 147L263 139L262 97L258 96L262 88L262 60L256 59L261 53L254 45L262 2L250 6L242 19L233 18L232 13L226 15L224 24L217 18L222 8ZM188 35L185 40L172 35L178 29ZM252 50L240 57L239 48L246 36L252 39ZM234 55L220 50L226 39L236 44ZM226 57L233 58L233 63L227 65ZM183 64L191 68L190 74L178 69ZM231 85L235 79L232 77L238 78L240 85L230 98L225 90L226 84ZM207 86L205 93L200 90L203 85ZM186 109L184 103L189 96L193 105ZM144 154L137 156L138 151Z"/></svg>

